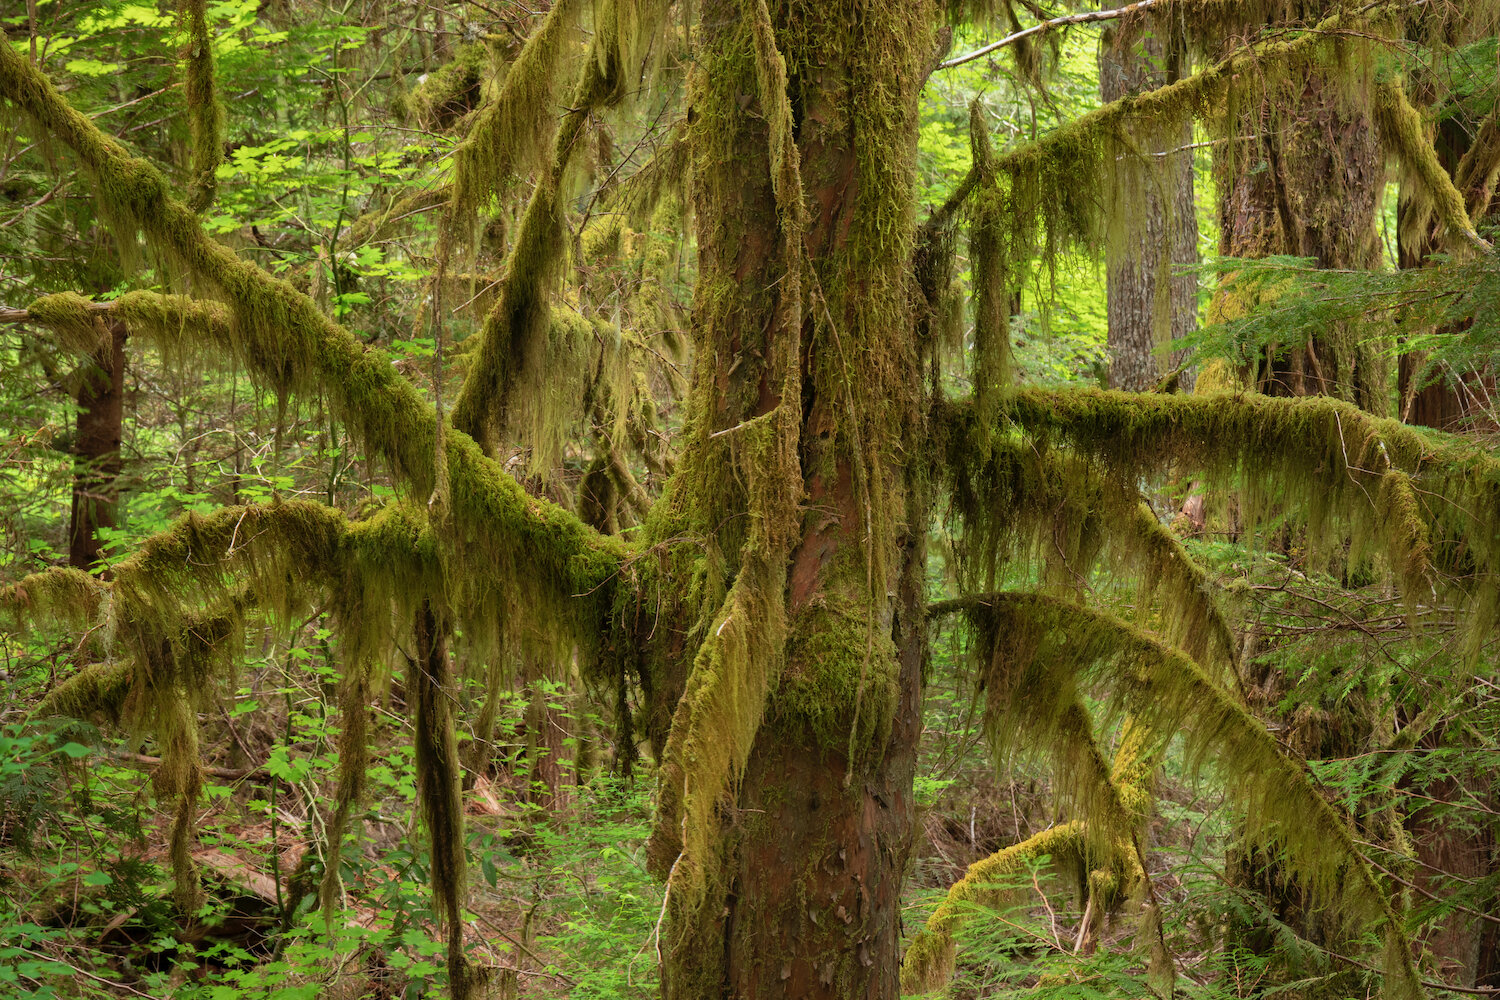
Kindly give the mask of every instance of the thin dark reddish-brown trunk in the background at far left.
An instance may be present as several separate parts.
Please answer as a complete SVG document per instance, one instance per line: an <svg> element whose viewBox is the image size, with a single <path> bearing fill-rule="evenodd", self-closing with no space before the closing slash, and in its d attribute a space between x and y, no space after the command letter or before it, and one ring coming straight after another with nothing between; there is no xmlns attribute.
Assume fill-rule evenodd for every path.
<svg viewBox="0 0 1500 1000"><path fill-rule="evenodd" d="M96 321L100 322L100 321ZM111 319L110 346L78 373L78 436L74 442L74 504L68 565L93 568L104 547L100 528L118 525L120 436L124 426L124 324Z"/></svg>

